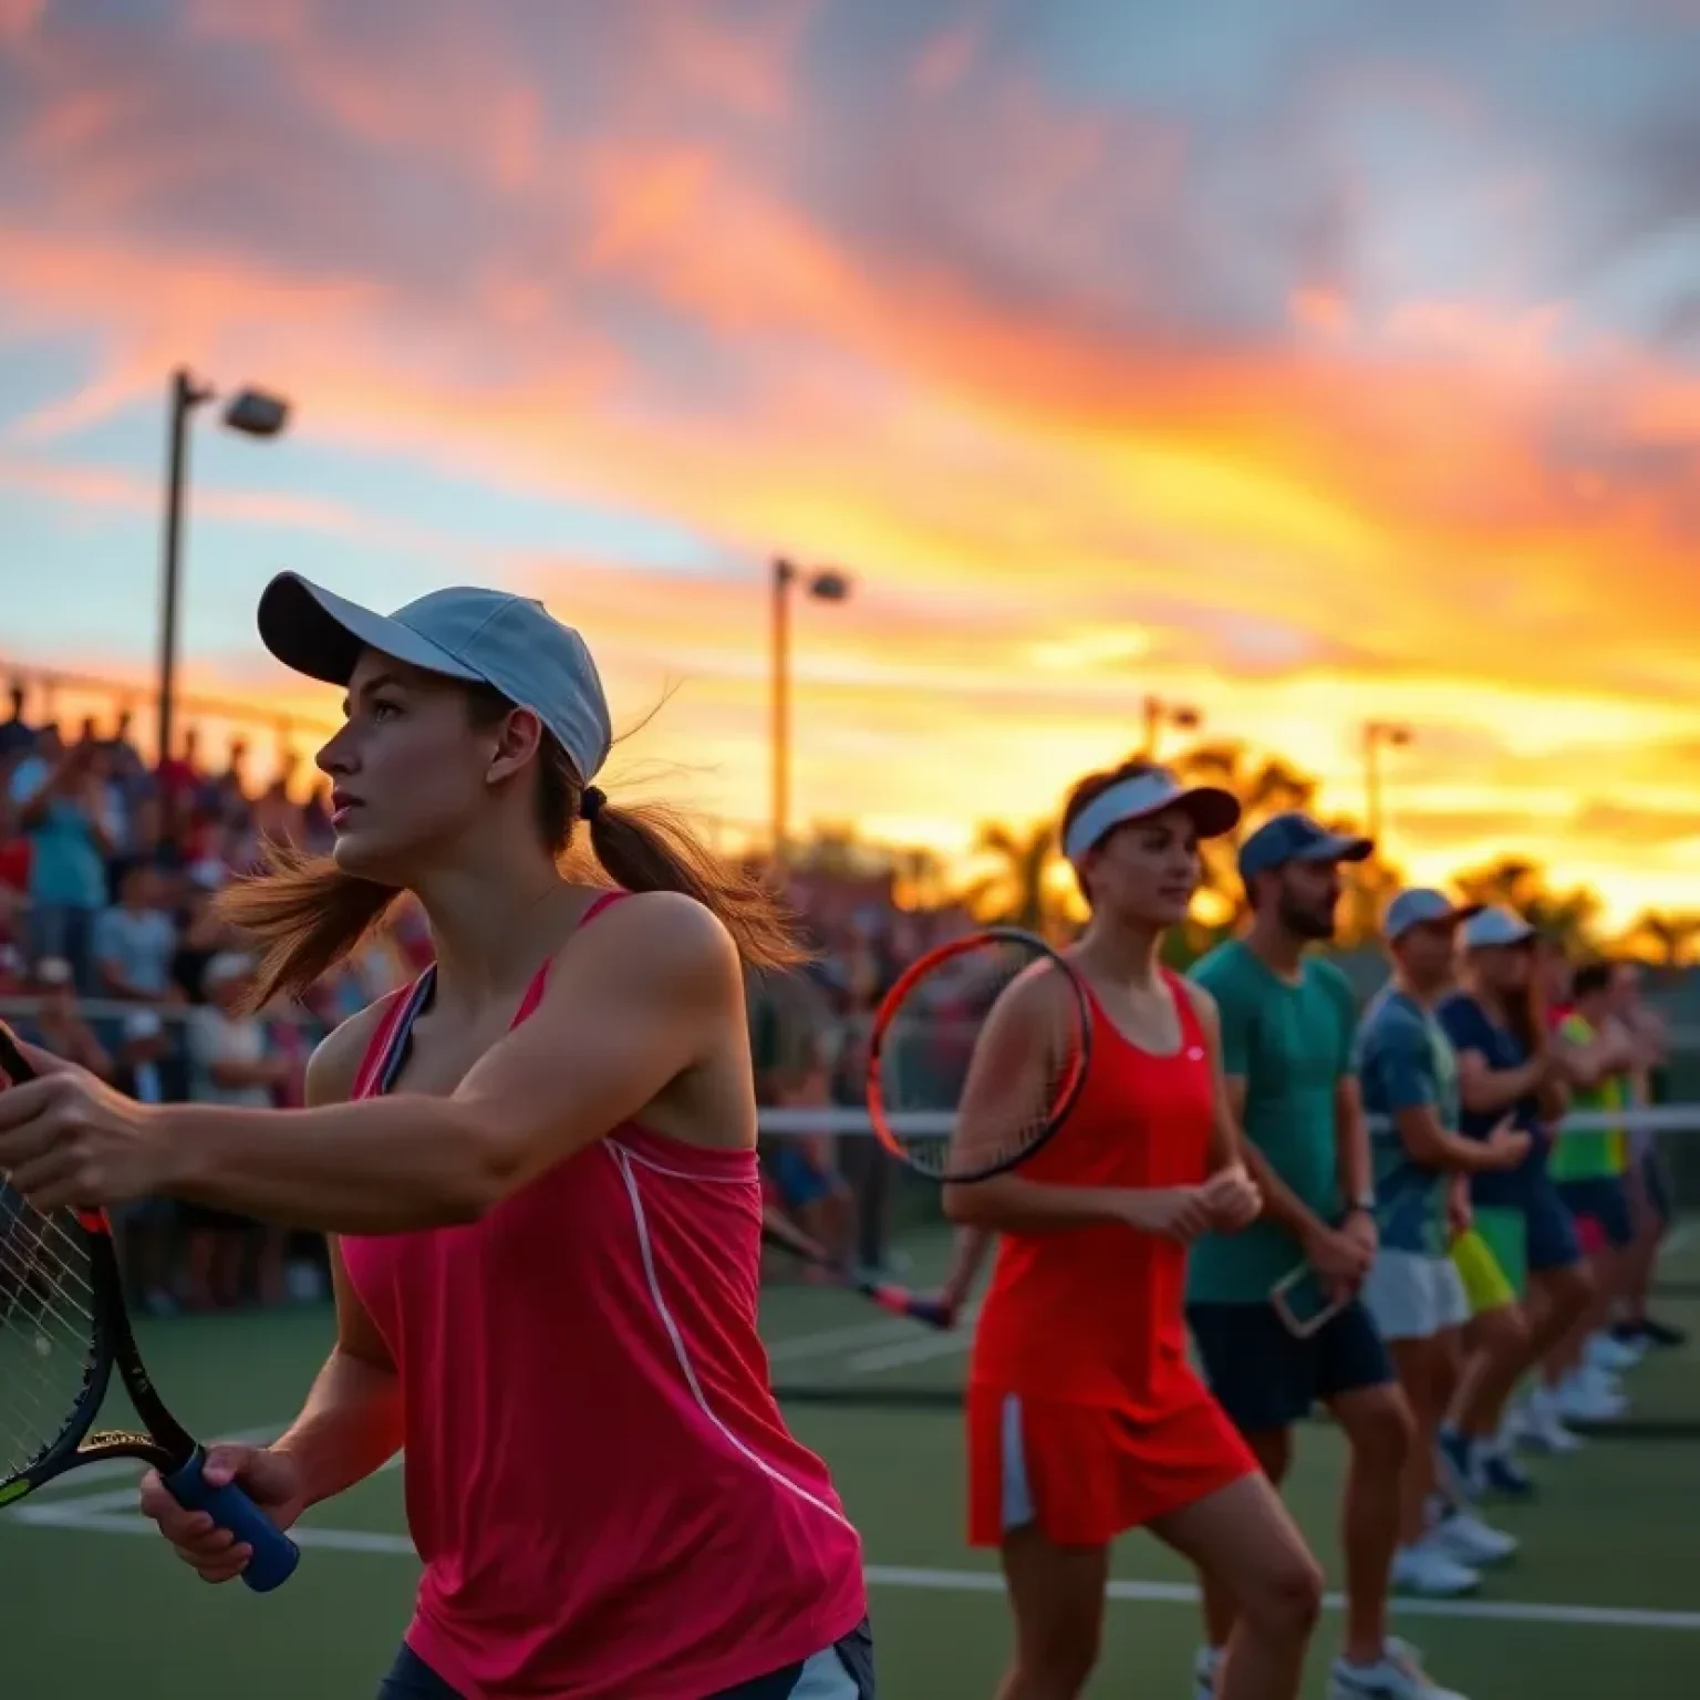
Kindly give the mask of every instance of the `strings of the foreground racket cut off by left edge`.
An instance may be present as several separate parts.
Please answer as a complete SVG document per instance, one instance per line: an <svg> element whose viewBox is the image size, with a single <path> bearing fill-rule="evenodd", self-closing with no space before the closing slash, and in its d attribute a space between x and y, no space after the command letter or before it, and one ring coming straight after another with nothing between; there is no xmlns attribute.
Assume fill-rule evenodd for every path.
<svg viewBox="0 0 1700 1700"><path fill-rule="evenodd" d="M94 1363L94 1280L82 1231L0 1182L0 1482L65 1433Z"/></svg>

